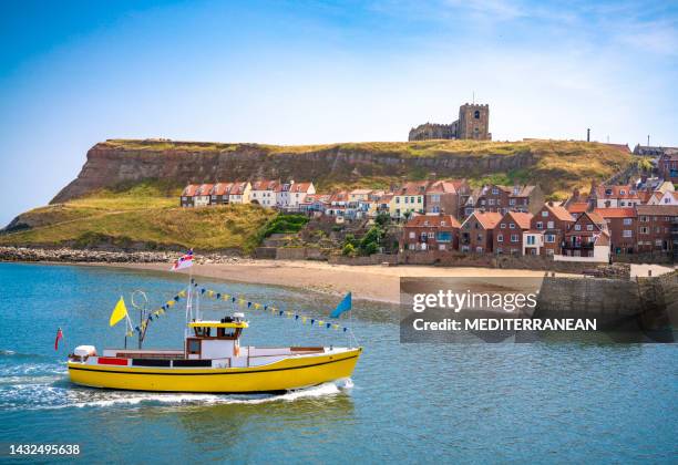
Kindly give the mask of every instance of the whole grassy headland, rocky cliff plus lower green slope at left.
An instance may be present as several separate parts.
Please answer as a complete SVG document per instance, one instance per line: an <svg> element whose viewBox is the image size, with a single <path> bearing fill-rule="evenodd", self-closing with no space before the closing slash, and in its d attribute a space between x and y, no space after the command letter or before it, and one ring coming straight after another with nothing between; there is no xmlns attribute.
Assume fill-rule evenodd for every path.
<svg viewBox="0 0 678 465"><path fill-rule="evenodd" d="M182 209L178 195L188 182L295 178L331 192L388 188L434 174L474 185L538 184L548 198L565 198L629 163L630 154L615 146L569 141L273 146L110 140L89 151L78 178L52 205L16 218L0 245L249 250L275 217L246 205Z"/></svg>

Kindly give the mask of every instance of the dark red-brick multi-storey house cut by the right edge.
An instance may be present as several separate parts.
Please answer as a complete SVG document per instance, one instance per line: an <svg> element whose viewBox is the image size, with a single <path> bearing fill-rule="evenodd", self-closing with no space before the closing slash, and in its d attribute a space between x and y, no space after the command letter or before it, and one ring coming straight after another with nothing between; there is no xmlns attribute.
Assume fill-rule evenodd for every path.
<svg viewBox="0 0 678 465"><path fill-rule="evenodd" d="M655 252L674 250L678 238L677 205L639 205L638 215L638 251Z"/></svg>

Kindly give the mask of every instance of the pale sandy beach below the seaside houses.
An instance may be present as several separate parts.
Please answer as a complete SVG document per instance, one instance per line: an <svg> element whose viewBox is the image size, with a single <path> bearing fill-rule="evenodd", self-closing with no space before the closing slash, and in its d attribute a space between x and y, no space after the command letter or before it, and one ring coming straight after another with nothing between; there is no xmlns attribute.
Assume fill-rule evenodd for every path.
<svg viewBox="0 0 678 465"><path fill-rule="evenodd" d="M170 272L167 264L92 265ZM424 266L347 266L322 261L242 259L232 264L195 265L193 275L228 281L311 289L332 294L351 291L355 299L396 303L399 301L401 277L542 277L544 271ZM558 273L558 276L565 275Z"/></svg>

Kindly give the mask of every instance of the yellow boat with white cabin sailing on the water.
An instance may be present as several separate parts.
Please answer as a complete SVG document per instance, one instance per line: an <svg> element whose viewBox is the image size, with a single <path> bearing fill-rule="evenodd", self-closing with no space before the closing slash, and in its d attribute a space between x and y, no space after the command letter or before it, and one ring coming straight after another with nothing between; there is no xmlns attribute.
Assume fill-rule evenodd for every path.
<svg viewBox="0 0 678 465"><path fill-rule="evenodd" d="M351 376L361 348L240 347L243 313L187 323L183 350L78 347L71 381L91 388L156 392L255 393L297 390Z"/></svg>

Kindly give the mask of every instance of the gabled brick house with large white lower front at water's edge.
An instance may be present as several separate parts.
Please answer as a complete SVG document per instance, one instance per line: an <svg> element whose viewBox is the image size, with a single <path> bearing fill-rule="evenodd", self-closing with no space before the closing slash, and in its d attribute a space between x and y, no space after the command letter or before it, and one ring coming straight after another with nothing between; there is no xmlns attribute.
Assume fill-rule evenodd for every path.
<svg viewBox="0 0 678 465"><path fill-rule="evenodd" d="M609 261L609 230L607 221L593 211L584 211L565 232L563 254L554 256L562 261Z"/></svg>

